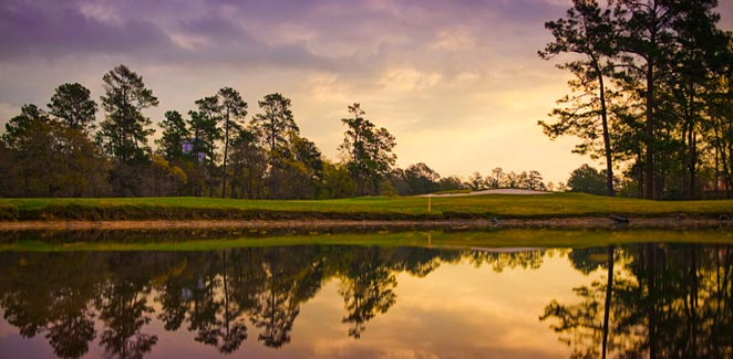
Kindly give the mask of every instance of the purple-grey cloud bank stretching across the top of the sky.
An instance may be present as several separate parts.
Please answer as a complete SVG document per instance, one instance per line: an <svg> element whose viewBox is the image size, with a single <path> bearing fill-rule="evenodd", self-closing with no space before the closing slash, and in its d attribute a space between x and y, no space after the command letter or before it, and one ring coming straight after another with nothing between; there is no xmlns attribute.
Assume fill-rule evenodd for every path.
<svg viewBox="0 0 733 359"><path fill-rule="evenodd" d="M443 71L475 64L548 7L538 0L9 0L0 8L0 61L102 54L364 75L398 64Z"/></svg>

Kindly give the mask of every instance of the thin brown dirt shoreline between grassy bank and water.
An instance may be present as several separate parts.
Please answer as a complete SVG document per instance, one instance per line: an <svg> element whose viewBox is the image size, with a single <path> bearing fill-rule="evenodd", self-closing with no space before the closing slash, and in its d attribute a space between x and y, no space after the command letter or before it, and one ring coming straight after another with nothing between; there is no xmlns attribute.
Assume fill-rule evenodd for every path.
<svg viewBox="0 0 733 359"><path fill-rule="evenodd" d="M547 219L491 220L147 220L147 221L86 221L49 220L0 222L0 232L14 231L85 231L85 230L175 230L175 229L339 229L339 230L487 230L487 229L732 229L733 221L711 218L639 217L628 223L617 223L607 217L568 217Z"/></svg>

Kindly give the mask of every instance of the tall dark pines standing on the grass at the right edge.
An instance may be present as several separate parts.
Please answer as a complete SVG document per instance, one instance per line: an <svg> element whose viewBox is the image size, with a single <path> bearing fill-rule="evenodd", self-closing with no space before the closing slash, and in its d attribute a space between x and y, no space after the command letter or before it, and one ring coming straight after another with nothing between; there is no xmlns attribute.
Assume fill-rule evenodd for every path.
<svg viewBox="0 0 733 359"><path fill-rule="evenodd" d="M733 194L733 35L716 0L574 0L545 23L570 94L546 135L606 163L606 193L647 199ZM620 169L621 173L615 173ZM616 183L616 184L615 184Z"/></svg>

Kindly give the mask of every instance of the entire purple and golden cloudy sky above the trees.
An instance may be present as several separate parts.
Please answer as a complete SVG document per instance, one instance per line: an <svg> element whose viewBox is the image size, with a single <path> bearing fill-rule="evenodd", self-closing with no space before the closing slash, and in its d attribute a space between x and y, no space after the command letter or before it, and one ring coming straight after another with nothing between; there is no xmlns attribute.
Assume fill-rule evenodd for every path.
<svg viewBox="0 0 733 359"><path fill-rule="evenodd" d="M347 107L396 137L398 166L425 162L467 178L538 170L565 181L578 141L551 141L548 119L569 78L537 51L545 21L570 0L3 0L0 124L79 82L99 102L102 76L125 64L159 99L158 123L229 86L258 113L279 92L301 135L338 160ZM733 30L733 0L720 0ZM101 119L102 112L97 115ZM3 126L4 127L4 126ZM158 130L159 135L159 130Z"/></svg>

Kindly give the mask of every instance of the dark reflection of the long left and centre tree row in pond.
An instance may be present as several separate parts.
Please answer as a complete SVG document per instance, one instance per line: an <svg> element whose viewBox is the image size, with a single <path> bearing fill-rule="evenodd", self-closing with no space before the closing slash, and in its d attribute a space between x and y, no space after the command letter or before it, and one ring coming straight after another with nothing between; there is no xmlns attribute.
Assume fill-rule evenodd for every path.
<svg viewBox="0 0 733 359"><path fill-rule="evenodd" d="M494 270L537 267L541 254L476 253L363 246L248 247L202 253L89 252L0 254L6 320L24 337L44 334L60 357L80 357L99 337L110 357L142 357L158 334L185 328L221 353L247 340L247 323L262 345L291 340L302 303L339 278L349 336L396 302L399 273L423 277L463 258ZM157 303L158 313L155 313ZM96 320L96 323L95 323ZM96 324L96 326L95 326ZM100 328L97 332L95 328Z"/></svg>

